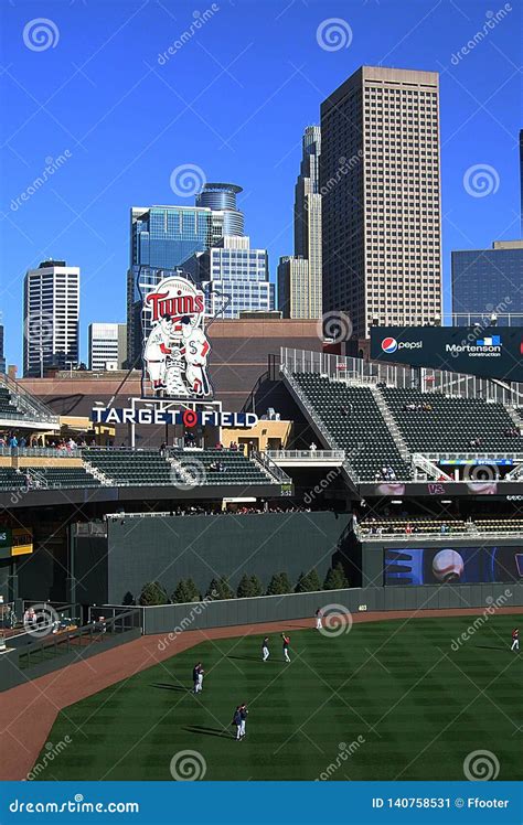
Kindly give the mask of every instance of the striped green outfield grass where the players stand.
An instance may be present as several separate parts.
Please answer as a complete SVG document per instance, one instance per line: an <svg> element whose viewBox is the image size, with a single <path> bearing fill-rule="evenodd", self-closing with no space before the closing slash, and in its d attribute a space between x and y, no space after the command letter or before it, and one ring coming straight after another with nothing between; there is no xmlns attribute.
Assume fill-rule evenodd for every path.
<svg viewBox="0 0 523 825"><path fill-rule="evenodd" d="M61 712L49 740L72 743L39 779L171 780L172 757L189 749L206 780L462 780L476 750L495 756L498 779L522 780L523 653L510 652L521 617L494 615L452 651L474 619L292 631L291 664L277 635L266 664L260 636L205 642ZM198 661L206 676L194 696ZM236 742L244 700L247 737Z"/></svg>

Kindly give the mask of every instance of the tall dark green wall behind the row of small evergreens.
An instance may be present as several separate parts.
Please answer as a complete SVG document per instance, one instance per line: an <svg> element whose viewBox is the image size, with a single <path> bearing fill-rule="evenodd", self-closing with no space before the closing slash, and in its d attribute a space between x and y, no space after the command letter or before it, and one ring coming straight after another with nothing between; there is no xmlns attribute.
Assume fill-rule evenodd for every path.
<svg viewBox="0 0 523 825"><path fill-rule="evenodd" d="M204 596L213 578L226 576L235 590L244 574L258 576L267 588L275 572L287 572L296 583L300 572L313 567L323 579L332 564L345 559L350 521L349 514L331 512L124 516L108 523L105 599L99 548L75 537L75 577L82 580L77 598L120 604L130 596L138 599L148 581L159 581L171 596L180 579L189 577ZM88 574L94 561L96 577Z"/></svg>

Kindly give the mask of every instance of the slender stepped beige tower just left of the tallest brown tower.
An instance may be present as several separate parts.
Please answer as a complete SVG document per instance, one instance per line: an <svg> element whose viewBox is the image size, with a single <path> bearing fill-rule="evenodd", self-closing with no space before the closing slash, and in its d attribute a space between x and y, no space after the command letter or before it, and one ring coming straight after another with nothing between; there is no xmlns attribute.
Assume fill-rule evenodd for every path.
<svg viewBox="0 0 523 825"><path fill-rule="evenodd" d="M322 312L320 152L320 127L308 126L295 186L295 255L278 265L278 306L285 318L320 318Z"/></svg>

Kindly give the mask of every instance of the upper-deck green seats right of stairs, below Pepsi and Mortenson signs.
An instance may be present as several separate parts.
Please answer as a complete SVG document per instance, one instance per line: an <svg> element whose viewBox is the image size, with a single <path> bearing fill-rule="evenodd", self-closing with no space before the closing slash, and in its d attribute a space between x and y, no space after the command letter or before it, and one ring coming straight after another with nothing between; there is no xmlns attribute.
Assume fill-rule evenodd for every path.
<svg viewBox="0 0 523 825"><path fill-rule="evenodd" d="M515 452L523 439L505 431L514 422L501 404L481 398L448 398L440 393L417 389L381 390L394 419L413 452ZM430 411L409 411L407 404L428 404ZM472 441L480 439L480 446Z"/></svg>

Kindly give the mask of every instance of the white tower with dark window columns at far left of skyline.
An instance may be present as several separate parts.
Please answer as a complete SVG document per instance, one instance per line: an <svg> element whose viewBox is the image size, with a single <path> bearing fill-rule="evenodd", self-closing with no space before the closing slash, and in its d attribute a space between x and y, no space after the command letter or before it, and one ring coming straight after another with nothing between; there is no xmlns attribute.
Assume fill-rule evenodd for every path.
<svg viewBox="0 0 523 825"><path fill-rule="evenodd" d="M78 363L79 268L44 260L23 283L23 373Z"/></svg>

